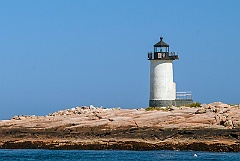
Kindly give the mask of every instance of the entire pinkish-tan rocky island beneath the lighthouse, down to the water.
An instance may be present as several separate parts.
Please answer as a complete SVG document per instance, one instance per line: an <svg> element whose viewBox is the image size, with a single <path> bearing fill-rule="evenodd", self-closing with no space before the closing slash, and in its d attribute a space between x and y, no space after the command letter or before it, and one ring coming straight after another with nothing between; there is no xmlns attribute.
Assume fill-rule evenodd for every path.
<svg viewBox="0 0 240 161"><path fill-rule="evenodd" d="M1 149L240 151L240 108L221 102L158 110L76 107L0 121Z"/></svg>

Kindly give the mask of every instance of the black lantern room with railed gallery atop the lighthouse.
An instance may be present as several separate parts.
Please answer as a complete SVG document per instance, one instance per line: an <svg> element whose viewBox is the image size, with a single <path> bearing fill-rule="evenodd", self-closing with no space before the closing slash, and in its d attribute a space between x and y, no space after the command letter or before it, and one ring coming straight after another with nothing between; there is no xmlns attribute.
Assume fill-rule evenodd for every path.
<svg viewBox="0 0 240 161"><path fill-rule="evenodd" d="M178 59L176 52L169 52L169 45L160 37L160 41L154 45L154 53L148 53L148 60L175 60Z"/></svg>

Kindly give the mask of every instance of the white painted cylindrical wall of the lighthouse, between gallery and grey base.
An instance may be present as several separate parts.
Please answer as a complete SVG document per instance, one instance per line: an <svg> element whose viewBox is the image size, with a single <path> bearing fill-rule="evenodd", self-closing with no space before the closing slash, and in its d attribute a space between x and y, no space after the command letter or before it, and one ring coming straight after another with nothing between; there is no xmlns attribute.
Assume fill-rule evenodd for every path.
<svg viewBox="0 0 240 161"><path fill-rule="evenodd" d="M172 60L150 60L150 100L175 100Z"/></svg>

